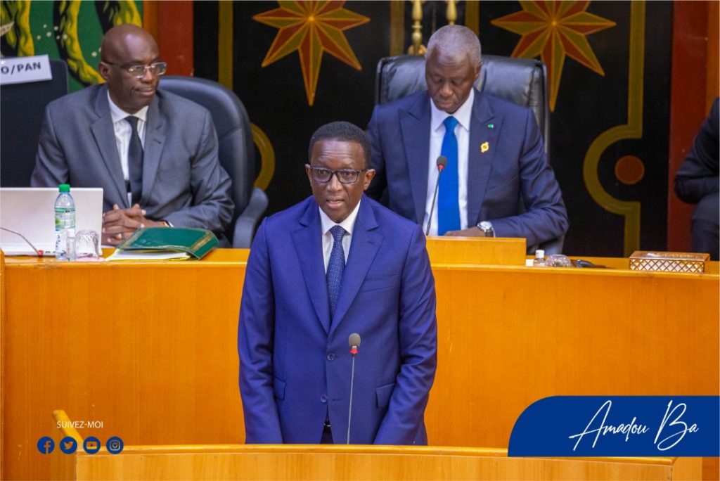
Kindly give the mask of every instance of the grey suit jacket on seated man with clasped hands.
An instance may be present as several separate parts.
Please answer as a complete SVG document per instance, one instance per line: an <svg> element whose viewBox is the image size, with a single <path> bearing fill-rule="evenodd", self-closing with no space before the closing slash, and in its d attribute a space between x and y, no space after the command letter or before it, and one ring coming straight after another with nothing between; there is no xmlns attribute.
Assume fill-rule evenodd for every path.
<svg viewBox="0 0 720 481"><path fill-rule="evenodd" d="M32 186L102 187L105 211L130 207L107 99L91 86L50 102L40 130ZM140 206L153 220L222 235L233 215L230 177L217 160L210 112L158 91L148 109Z"/></svg>

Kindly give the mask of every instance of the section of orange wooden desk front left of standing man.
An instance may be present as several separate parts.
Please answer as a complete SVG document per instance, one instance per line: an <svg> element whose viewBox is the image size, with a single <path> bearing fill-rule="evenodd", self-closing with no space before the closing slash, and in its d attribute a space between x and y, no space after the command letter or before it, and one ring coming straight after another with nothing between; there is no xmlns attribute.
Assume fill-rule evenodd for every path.
<svg viewBox="0 0 720 481"><path fill-rule="evenodd" d="M248 250L202 261L6 258L5 479L47 479L53 410L126 444L244 441L238 313ZM53 286L74 295L58 298ZM88 427L102 423L102 427Z"/></svg>

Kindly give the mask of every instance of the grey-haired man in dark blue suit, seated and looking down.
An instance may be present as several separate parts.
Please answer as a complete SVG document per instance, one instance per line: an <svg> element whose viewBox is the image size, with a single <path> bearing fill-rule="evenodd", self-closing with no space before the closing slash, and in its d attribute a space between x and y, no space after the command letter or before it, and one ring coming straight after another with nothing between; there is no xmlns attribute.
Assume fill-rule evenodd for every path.
<svg viewBox="0 0 720 481"><path fill-rule="evenodd" d="M375 107L368 130L368 195L431 235L526 238L534 246L567 232L567 212L533 112L473 88L480 41L459 25L428 42L421 91ZM438 156L447 158L438 199Z"/></svg>

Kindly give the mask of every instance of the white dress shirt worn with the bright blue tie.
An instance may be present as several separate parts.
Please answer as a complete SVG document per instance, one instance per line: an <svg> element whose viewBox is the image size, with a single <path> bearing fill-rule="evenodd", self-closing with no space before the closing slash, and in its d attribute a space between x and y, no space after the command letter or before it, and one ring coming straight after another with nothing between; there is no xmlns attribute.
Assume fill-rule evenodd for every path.
<svg viewBox="0 0 720 481"><path fill-rule="evenodd" d="M428 227L428 217L430 216L431 206L433 204L433 194L435 194L435 183L438 179L438 157L443 146L443 138L445 136L445 125L443 122L447 117L455 117L457 125L455 126L455 137L457 138L457 193L458 203L460 206L460 228L467 229L467 156L470 143L470 119L472 117L472 104L474 102L475 89L470 90L465 102L453 114L448 114L438 109L430 99L430 148L428 157L428 192L425 201L425 216L423 217L423 232ZM433 219L430 225L430 234L438 235L438 205L435 201L433 209Z"/></svg>

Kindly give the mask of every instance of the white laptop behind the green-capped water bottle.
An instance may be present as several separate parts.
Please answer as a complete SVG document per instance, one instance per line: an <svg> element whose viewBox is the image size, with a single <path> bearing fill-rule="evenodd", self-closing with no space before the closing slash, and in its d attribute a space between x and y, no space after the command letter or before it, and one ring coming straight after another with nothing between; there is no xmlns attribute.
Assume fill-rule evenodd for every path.
<svg viewBox="0 0 720 481"><path fill-rule="evenodd" d="M71 188L75 201L75 230L102 229L102 189ZM42 256L55 255L55 199L57 187L0 188L0 248L6 256L37 256L14 230L27 238Z"/></svg>

